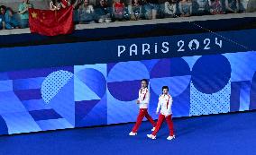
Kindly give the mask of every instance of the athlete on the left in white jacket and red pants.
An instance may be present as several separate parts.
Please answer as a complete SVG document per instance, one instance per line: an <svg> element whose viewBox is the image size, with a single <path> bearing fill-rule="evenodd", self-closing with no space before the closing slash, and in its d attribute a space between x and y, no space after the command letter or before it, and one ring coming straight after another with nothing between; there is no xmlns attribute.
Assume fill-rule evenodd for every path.
<svg viewBox="0 0 256 155"><path fill-rule="evenodd" d="M137 131L142 124L142 120L144 116L151 122L151 125L153 126L152 131L154 130L154 126L156 125L152 117L148 113L148 105L150 102L151 94L148 90L148 81L146 79L142 79L142 88L139 90L139 99L137 99L137 104L139 104L140 112L139 116L137 117L136 124L133 126L133 130L129 135L136 135Z"/></svg>

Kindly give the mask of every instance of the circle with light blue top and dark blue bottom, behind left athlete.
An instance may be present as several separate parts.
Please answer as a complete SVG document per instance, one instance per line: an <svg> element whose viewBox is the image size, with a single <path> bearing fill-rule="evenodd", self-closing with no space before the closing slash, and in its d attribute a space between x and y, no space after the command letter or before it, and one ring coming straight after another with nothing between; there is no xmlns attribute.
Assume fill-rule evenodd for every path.
<svg viewBox="0 0 256 155"><path fill-rule="evenodd" d="M133 101L138 98L138 84L142 79L149 79L149 71L139 61L121 62L108 65L107 88L114 99Z"/></svg>

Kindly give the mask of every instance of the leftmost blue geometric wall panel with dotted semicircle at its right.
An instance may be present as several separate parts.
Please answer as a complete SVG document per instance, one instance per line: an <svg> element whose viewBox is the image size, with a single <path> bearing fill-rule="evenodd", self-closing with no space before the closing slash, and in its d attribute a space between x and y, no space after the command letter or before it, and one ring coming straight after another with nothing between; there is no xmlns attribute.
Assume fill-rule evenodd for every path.
<svg viewBox="0 0 256 155"><path fill-rule="evenodd" d="M0 73L0 134L29 133L75 126L73 81L62 84L46 102L41 91L43 83L63 81L63 76L49 82L51 73L73 74L73 67L32 69ZM62 102L61 102L62 100ZM60 103L61 102L61 103ZM67 106L68 105L68 106ZM61 109L62 108L62 109ZM66 111L66 112L65 112Z"/></svg>

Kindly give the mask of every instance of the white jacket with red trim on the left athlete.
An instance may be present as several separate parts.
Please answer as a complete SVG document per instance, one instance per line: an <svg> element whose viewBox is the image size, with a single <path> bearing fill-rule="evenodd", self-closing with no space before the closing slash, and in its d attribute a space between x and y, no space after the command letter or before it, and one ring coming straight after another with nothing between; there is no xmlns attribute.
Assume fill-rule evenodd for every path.
<svg viewBox="0 0 256 155"><path fill-rule="evenodd" d="M138 100L140 100L139 107L148 108L148 105L150 103L150 98L151 98L151 93L147 88L139 90L139 98L138 98Z"/></svg>

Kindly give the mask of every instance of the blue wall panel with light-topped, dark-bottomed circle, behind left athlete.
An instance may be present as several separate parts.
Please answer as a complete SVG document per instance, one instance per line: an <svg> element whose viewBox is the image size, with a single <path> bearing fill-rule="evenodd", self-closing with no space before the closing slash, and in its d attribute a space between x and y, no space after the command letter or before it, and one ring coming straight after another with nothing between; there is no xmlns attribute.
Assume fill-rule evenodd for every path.
<svg viewBox="0 0 256 155"><path fill-rule="evenodd" d="M107 124L133 122L138 113L135 102L142 79L150 79L140 61L107 65Z"/></svg>

